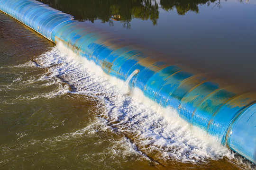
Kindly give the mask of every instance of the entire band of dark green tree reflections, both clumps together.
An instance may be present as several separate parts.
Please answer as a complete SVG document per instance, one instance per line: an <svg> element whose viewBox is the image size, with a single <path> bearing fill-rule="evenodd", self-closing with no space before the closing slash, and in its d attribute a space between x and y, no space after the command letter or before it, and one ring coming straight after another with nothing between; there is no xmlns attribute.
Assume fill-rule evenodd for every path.
<svg viewBox="0 0 256 170"><path fill-rule="evenodd" d="M89 20L92 23L96 19L108 22L113 26L113 20L123 23L130 28L133 18L152 21L157 24L159 18L159 6L166 11L176 9L179 15L185 15L188 11L199 12L199 5L216 0L39 0L53 8L72 14L78 20Z"/></svg>

